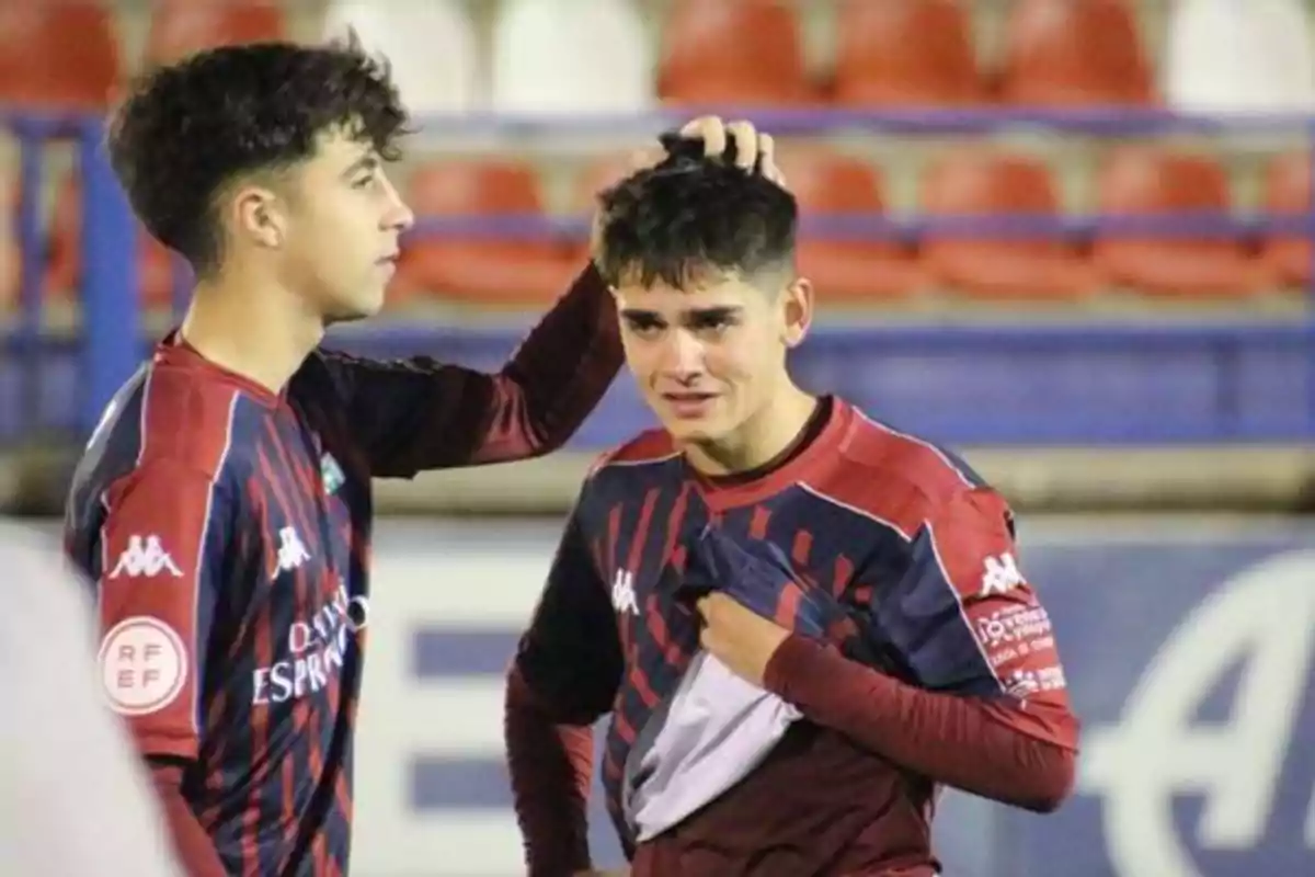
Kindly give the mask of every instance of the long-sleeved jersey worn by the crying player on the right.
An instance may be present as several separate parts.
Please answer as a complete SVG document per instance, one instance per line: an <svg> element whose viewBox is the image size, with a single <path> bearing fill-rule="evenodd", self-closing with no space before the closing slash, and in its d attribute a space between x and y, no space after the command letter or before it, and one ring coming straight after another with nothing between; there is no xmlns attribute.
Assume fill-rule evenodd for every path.
<svg viewBox="0 0 1315 877"><path fill-rule="evenodd" d="M752 477L696 475L665 434L589 476L508 690L533 874L588 864L592 722L636 876L936 868L940 785L1048 810L1077 721L1010 511L956 458L826 400ZM731 593L793 630L761 688L698 648L680 598L706 514ZM776 575L773 569L785 569Z"/></svg>

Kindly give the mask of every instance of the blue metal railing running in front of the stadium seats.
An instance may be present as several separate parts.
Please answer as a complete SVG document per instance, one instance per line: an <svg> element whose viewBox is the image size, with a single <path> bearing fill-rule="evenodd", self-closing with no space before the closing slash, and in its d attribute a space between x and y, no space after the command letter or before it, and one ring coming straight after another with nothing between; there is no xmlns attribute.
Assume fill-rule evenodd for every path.
<svg viewBox="0 0 1315 877"><path fill-rule="evenodd" d="M654 113L627 117L589 117L576 120L544 117L494 117L467 116L462 118L431 118L423 128L426 138L481 135L500 133L508 137L547 137L569 134L648 135L667 129L697 109L682 109L677 113ZM1169 133L1190 131L1207 135L1233 133L1274 133L1295 131L1315 145L1315 120L1293 116L1231 116L1205 117L1182 116L1160 110L1086 110L1086 112L1001 112L995 109L953 110L953 112L865 112L865 110L746 110L721 108L722 116L747 116L767 130L782 135L831 134L865 131L871 134L961 134L965 137L992 135L997 131L1036 128L1064 135L1084 134L1093 137L1153 137ZM137 296L137 225L132 220L128 205L113 180L113 175L100 149L103 137L101 120L93 117L57 117L14 114L0 110L0 124L8 125L21 145L21 209L18 214L18 241L22 250L21 308L17 326L9 333L9 355L21 364L21 410L26 422L39 422L43 394L49 381L41 373L45 358L42 351L55 350L42 338L42 271L45 242L41 233L41 218L36 210L41 178L43 171L43 142L50 138L72 139L78 146L83 176L83 327L74 339L78 356L76 388L80 392L76 408L75 429L89 430L108 402L114 389L137 367L143 352L142 327L135 318L139 313ZM832 238L869 239L894 238L915 239L923 235L973 235L973 237L1060 237L1086 239L1094 234L1136 234L1164 237L1256 237L1261 234L1299 234L1315 238L1315 216L1264 216L1264 214L1182 214L1157 217L1107 217L1090 216L1078 218L1056 218L1040 216L1009 217L889 217L876 214L844 217L807 217L803 222L809 234ZM581 238L586 234L586 217L542 217L504 216L489 218L446 220L426 217L418 224L414 234L492 237L551 237ZM185 277L180 276L176 302L185 300ZM1315 289L1312 289L1315 293ZM990 325L952 326L918 325L889 326L880 329L822 327L809 346L809 352L801 352L807 366L818 372L828 372L831 362L840 356L855 362L855 355L864 355L868 371L888 367L899 356L913 354L972 358L985 352L999 354L1003 350L1022 355L1073 354L1085 351L1098 355L1102 351L1126 350L1143 352L1156 348L1169 355L1174 350L1193 348L1219 351L1216 366L1227 368L1228 363L1245 359L1239 351L1262 352L1266 347L1294 350L1294 344L1306 351L1304 368L1299 379L1286 373L1274 375L1276 381L1299 380L1303 391L1299 393L1299 406L1306 414L1301 419L1306 426L1299 434L1306 440L1315 439L1315 308L1310 309L1308 320L1299 325L1289 317L1286 321L1274 318L1244 318L1231 322L1176 322L1136 325L1120 322L1066 325ZM490 356L510 348L522 326L501 327L497 331L471 330L462 327L402 327L375 323L354 327L345 334L348 343L364 346L376 352L400 352L402 350L452 350L468 351L467 360L479 364L496 364ZM67 347L67 344L63 344ZM458 359L462 355L458 354ZM1252 356L1252 359L1256 359ZM13 360L11 360L13 362ZM1290 358L1283 363L1293 362ZM860 368L860 371L863 371ZM1220 379L1219 385L1237 384L1241 379ZM1199 388L1198 388L1199 389ZM1226 396L1223 391L1211 388ZM861 396L861 391L860 391ZM878 393L880 396L880 393ZM880 401L880 400L878 400ZM1077 418L1081 421L1081 418ZM1076 421L1076 422L1077 422ZM1022 421L1026 426L1026 418ZM1287 421L1285 421L1287 422ZM1295 422L1295 421L1293 421ZM1223 421L1220 421L1223 423ZM974 440L988 435L989 430L951 429L953 440ZM1195 430L1195 433L1194 433ZM1285 427L1282 437L1291 439L1291 429ZM1026 430L1023 430L1026 431ZM1130 434L1119 425L1109 429L1089 429L1065 440L1081 440L1089 435L1093 440L1114 440L1127 435L1143 435L1148 440L1227 440L1237 433L1235 426L1215 427L1182 426L1162 433L1141 431ZM1260 438L1264 437L1261 430ZM1257 438L1251 435L1251 438Z"/></svg>

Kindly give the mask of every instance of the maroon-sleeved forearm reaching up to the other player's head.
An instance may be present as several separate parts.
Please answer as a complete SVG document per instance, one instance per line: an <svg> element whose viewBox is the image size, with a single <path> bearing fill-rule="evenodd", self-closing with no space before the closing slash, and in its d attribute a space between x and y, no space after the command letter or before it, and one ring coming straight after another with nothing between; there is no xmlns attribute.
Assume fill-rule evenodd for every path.
<svg viewBox="0 0 1315 877"><path fill-rule="evenodd" d="M565 444L622 362L617 306L590 263L497 376L497 418L475 462L538 456Z"/></svg>

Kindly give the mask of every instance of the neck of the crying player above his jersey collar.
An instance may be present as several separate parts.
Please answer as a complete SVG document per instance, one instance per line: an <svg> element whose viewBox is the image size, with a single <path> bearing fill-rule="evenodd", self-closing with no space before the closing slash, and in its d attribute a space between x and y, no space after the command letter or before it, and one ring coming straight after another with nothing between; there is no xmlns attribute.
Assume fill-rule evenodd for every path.
<svg viewBox="0 0 1315 877"><path fill-rule="evenodd" d="M817 410L815 396L788 383L776 397L732 435L689 443L685 458L709 476L752 472L781 459L798 440Z"/></svg>

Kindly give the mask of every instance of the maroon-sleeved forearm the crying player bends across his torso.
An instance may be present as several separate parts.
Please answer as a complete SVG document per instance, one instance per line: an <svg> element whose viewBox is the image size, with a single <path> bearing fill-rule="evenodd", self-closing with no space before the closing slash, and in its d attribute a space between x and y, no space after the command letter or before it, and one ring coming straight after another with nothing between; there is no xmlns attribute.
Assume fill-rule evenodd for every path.
<svg viewBox="0 0 1315 877"><path fill-rule="evenodd" d="M1073 747L1002 721L998 705L926 692L790 636L767 667L764 685L810 721L849 735L896 764L965 792L1038 813L1073 788Z"/></svg>

